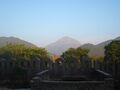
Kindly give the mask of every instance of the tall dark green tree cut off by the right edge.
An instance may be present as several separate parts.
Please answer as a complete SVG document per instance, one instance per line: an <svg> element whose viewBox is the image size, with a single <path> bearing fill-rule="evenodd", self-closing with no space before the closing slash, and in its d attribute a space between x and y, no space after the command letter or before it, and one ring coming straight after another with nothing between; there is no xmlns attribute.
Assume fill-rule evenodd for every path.
<svg viewBox="0 0 120 90"><path fill-rule="evenodd" d="M120 40L112 41L105 47L106 71L120 82Z"/></svg>

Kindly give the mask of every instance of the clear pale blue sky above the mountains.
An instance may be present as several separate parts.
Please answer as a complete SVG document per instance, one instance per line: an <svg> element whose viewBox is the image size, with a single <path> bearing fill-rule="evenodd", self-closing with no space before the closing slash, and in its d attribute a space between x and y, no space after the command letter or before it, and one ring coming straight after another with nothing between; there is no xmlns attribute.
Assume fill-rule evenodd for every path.
<svg viewBox="0 0 120 90"><path fill-rule="evenodd" d="M0 36L38 46L63 36L96 44L120 36L120 0L0 0Z"/></svg>

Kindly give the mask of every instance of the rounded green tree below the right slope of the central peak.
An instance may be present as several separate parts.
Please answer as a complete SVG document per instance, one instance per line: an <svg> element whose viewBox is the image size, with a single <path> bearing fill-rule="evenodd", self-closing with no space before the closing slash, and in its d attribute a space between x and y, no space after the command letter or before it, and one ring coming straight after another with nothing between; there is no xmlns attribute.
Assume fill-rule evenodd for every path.
<svg viewBox="0 0 120 90"><path fill-rule="evenodd" d="M62 54L64 58L64 66L67 70L74 70L80 67L81 59L83 56L88 57L88 49L70 48Z"/></svg>

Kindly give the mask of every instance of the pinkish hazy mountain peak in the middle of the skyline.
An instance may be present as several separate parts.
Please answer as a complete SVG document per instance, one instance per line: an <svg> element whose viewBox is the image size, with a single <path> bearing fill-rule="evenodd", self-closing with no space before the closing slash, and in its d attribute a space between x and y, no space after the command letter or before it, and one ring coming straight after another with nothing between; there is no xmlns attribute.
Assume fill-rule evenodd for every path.
<svg viewBox="0 0 120 90"><path fill-rule="evenodd" d="M79 41L70 37L63 37L58 41L46 46L46 49L53 54L61 55L68 48L76 48L79 46L80 46Z"/></svg>

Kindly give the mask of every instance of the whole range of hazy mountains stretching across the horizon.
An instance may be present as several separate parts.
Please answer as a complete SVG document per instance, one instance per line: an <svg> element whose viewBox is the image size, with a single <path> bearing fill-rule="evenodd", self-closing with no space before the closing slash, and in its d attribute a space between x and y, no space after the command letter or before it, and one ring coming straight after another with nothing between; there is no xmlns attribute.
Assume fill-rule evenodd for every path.
<svg viewBox="0 0 120 90"><path fill-rule="evenodd" d="M90 43L81 45L79 41L73 38L63 37L58 41L52 44L49 44L45 48L52 54L55 54L56 56L61 55L63 52L65 52L69 48L77 48L77 47L89 49L90 50L89 56L104 56L104 47L108 45L110 42L112 42L113 40L120 40L120 37L117 37L112 40L104 41L97 45L93 45ZM29 47L37 47L36 45L30 42L21 40L16 37L0 37L0 47L5 46L7 43L25 44L26 46L29 46Z"/></svg>

